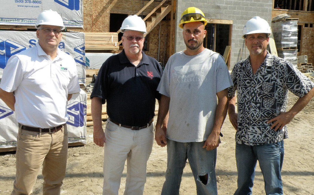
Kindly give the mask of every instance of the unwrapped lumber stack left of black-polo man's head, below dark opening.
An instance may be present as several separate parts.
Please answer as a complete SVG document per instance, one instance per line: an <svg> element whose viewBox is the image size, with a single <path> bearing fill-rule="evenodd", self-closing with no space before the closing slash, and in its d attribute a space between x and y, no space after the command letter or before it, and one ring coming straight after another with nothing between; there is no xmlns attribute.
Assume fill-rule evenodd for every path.
<svg viewBox="0 0 314 195"><path fill-rule="evenodd" d="M85 50L117 50L116 32L85 32Z"/></svg>

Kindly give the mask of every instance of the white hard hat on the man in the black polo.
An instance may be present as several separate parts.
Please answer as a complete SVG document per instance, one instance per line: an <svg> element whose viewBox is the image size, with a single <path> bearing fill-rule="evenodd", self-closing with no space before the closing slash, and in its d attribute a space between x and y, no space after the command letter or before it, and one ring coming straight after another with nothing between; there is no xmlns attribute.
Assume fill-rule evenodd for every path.
<svg viewBox="0 0 314 195"><path fill-rule="evenodd" d="M124 33L124 31L139 31L144 34L146 33L145 22L137 15L127 16L127 18L123 20L122 26L120 28L120 32Z"/></svg>

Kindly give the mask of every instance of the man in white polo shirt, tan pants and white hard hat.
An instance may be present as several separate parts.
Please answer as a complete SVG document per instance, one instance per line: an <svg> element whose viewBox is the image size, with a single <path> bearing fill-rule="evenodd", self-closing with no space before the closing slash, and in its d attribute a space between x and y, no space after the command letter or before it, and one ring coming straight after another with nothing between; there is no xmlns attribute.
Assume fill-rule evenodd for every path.
<svg viewBox="0 0 314 195"><path fill-rule="evenodd" d="M60 194L68 154L66 107L80 91L74 59L58 49L61 16L43 11L35 27L38 43L8 60L0 84L0 98L19 122L11 195L32 194L41 165L42 194Z"/></svg>

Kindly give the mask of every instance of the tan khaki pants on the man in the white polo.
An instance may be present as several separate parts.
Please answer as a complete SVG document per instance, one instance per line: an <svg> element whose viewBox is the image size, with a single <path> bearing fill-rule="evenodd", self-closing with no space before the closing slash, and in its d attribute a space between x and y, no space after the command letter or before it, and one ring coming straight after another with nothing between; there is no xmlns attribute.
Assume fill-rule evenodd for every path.
<svg viewBox="0 0 314 195"><path fill-rule="evenodd" d="M56 133L38 133L19 128L16 148L16 176L11 195L33 193L42 168L43 195L60 194L68 155L66 125Z"/></svg>

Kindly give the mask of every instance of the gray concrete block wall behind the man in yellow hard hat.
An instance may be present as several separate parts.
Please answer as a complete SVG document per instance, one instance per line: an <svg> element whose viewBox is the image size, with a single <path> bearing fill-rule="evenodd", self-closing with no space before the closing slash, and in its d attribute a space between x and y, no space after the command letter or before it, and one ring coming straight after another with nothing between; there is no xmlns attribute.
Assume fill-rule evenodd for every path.
<svg viewBox="0 0 314 195"><path fill-rule="evenodd" d="M270 25L272 5L272 0L177 0L175 52L186 48L182 29L178 26L181 14L188 7L194 6L201 9L208 19L233 20L230 53L230 70L232 70L236 62L249 56L244 39L241 37L246 21L259 16Z"/></svg>

